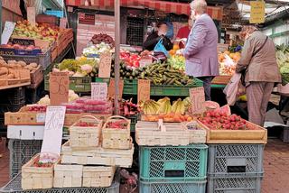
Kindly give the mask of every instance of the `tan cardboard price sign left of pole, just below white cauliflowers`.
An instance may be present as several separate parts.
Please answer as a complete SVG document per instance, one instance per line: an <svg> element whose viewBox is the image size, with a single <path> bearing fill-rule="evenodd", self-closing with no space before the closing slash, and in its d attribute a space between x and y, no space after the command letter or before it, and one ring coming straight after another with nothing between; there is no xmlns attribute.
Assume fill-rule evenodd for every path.
<svg viewBox="0 0 289 193"><path fill-rule="evenodd" d="M98 67L99 78L110 78L111 70L111 53L101 53Z"/></svg>

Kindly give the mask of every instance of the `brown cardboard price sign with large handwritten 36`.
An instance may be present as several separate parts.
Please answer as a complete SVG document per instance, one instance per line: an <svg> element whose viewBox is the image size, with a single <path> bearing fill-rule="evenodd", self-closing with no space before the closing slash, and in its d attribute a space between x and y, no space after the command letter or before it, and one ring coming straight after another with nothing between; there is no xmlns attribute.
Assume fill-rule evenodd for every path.
<svg viewBox="0 0 289 193"><path fill-rule="evenodd" d="M70 78L67 72L51 72L49 84L51 106L69 102Z"/></svg>

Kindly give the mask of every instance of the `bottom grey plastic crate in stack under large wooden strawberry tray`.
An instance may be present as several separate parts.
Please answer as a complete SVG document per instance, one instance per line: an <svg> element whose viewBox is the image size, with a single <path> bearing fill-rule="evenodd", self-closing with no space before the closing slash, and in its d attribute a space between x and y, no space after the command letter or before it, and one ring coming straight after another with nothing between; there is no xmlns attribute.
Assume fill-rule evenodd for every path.
<svg viewBox="0 0 289 193"><path fill-rule="evenodd" d="M208 176L207 193L260 193L263 174Z"/></svg>

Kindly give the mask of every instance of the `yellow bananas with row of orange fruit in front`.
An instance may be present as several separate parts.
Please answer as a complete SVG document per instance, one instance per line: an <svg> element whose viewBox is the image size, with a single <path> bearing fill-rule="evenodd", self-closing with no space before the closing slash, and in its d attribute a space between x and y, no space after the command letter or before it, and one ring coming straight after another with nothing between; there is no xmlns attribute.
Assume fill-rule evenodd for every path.
<svg viewBox="0 0 289 193"><path fill-rule="evenodd" d="M164 122L182 122L191 121L190 115L185 115L187 103L179 98L172 102L169 97L164 97L158 101L147 100L140 105L142 113L142 119L144 121L155 122L159 119L163 119Z"/></svg>

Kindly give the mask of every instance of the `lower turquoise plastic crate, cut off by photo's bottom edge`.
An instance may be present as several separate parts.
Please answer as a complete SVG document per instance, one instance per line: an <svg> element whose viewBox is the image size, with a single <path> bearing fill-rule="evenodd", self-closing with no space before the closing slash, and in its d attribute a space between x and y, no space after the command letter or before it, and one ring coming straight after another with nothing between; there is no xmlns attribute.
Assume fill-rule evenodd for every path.
<svg viewBox="0 0 289 193"><path fill-rule="evenodd" d="M155 183L140 181L139 193L205 193L206 181Z"/></svg>

